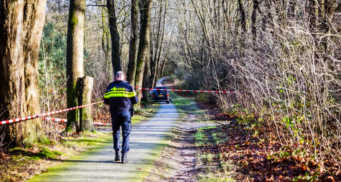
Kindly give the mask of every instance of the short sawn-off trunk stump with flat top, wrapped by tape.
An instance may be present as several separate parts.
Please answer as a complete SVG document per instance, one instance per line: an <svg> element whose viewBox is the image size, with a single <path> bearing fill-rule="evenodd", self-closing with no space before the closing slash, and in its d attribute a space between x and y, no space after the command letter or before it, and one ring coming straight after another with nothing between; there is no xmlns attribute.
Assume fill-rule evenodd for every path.
<svg viewBox="0 0 341 182"><path fill-rule="evenodd" d="M84 76L80 81L79 106L91 104L92 87L93 78L90 76ZM79 131L96 131L95 125L93 124L91 106L80 108L79 113Z"/></svg>

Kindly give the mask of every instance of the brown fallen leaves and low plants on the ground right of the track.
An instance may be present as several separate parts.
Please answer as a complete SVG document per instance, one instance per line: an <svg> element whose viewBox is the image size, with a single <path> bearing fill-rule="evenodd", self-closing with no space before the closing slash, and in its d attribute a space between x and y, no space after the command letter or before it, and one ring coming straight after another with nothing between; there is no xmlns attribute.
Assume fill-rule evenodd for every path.
<svg viewBox="0 0 341 182"><path fill-rule="evenodd" d="M169 85L171 85L170 78ZM173 81L173 80L172 80ZM185 89L176 85L175 89ZM187 89L187 88L186 88ZM198 107L207 110L210 120L229 124L199 128L195 131L196 143L208 166L207 169L221 177L233 172L234 179L242 181L340 181L340 160L335 160L331 151L307 137L295 143L287 142L292 137L286 125L274 130L265 121L264 113L249 111L245 105L236 105L224 110L219 104L202 93L177 92L183 97L195 97ZM212 99L211 101L214 101ZM288 123L287 121L283 121ZM333 146L337 150L339 146ZM317 148L317 150L316 150ZM315 158L314 152L320 153ZM231 175L231 173L229 173ZM219 176L219 175L218 175Z"/></svg>

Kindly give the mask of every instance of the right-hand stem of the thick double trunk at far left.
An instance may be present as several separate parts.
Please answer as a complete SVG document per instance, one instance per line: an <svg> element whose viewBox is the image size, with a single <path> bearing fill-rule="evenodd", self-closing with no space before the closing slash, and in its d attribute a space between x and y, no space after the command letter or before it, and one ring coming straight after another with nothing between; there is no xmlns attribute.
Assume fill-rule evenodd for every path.
<svg viewBox="0 0 341 182"><path fill-rule="evenodd" d="M40 113L39 108L39 86L38 86L38 59L39 49L43 34L45 21L46 0L26 0L24 15L24 63L25 63L25 96L26 96L26 115L31 116ZM44 131L42 130L40 118L33 119L25 126L30 130L24 130L26 136L36 135L36 139L45 142ZM34 132L31 132L34 131ZM30 145L27 138L23 140L24 145ZM28 141L25 143L25 141Z"/></svg>

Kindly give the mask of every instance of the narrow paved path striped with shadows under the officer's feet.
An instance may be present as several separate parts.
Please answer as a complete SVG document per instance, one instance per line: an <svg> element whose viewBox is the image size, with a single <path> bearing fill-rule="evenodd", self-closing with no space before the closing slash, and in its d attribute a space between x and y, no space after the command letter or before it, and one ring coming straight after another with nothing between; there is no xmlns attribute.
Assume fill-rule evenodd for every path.
<svg viewBox="0 0 341 182"><path fill-rule="evenodd" d="M158 81L159 86L163 79ZM175 106L162 103L153 118L132 126L127 164L114 162L115 152L110 141L104 148L75 156L29 181L141 181L148 175L178 120Z"/></svg>

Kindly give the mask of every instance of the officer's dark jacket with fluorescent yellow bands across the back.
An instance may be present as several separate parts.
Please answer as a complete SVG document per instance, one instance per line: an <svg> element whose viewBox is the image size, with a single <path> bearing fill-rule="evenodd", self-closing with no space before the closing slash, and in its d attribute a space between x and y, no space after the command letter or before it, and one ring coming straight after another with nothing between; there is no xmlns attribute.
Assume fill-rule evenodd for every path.
<svg viewBox="0 0 341 182"><path fill-rule="evenodd" d="M128 111L138 102L137 94L128 81L112 82L104 94L104 104L109 105L110 112Z"/></svg>

